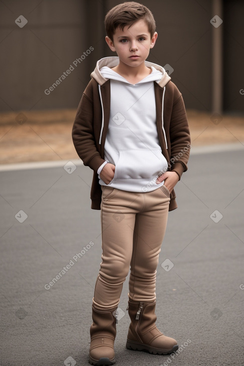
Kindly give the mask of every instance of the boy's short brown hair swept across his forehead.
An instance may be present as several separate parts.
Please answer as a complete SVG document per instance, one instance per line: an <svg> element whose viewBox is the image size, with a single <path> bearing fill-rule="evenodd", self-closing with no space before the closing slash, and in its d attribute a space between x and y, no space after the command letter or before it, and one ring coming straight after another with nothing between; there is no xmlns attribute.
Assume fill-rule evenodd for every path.
<svg viewBox="0 0 244 366"><path fill-rule="evenodd" d="M108 37L113 40L117 28L129 27L137 20L145 20L151 38L156 30L156 23L151 10L135 1L126 1L114 6L105 16L105 29Z"/></svg>

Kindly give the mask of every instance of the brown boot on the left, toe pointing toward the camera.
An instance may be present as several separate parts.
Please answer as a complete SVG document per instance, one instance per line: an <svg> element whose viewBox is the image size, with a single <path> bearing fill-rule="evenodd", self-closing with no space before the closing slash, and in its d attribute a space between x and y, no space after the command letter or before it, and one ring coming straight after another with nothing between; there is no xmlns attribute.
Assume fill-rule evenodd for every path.
<svg viewBox="0 0 244 366"><path fill-rule="evenodd" d="M103 309L93 300L90 328L91 344L89 364L107 366L115 364L114 340L116 337L117 306Z"/></svg>

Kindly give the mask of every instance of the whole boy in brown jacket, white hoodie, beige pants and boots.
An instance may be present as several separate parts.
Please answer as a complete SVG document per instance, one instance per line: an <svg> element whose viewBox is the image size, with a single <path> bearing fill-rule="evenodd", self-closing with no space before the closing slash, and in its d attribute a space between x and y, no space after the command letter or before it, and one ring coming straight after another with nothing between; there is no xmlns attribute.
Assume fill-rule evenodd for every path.
<svg viewBox="0 0 244 366"><path fill-rule="evenodd" d="M116 309L130 268L126 347L167 355L177 342L156 327L156 269L174 186L187 170L190 134L182 95L159 65L145 61L157 32L151 11L131 1L105 17L118 56L97 62L72 138L93 170L91 208L101 209L102 263L92 300L91 365L115 363Z"/></svg>

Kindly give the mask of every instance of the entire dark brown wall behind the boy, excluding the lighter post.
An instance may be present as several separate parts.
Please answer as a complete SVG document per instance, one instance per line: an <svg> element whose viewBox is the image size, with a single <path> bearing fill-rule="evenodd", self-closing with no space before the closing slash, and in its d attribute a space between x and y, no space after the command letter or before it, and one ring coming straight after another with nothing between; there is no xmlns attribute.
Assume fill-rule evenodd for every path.
<svg viewBox="0 0 244 366"><path fill-rule="evenodd" d="M106 12L120 2L0 2L0 110L76 108L97 59L112 54L104 40L103 20ZM159 33L148 60L174 68L172 81L183 93L186 107L211 111L214 27L210 19L215 15L212 0L144 0L143 3L152 10ZM230 65L235 69L234 78L230 75L225 78L228 88L223 93L224 109L244 112L244 96L239 93L244 88L240 81L244 32L239 24L243 3L224 1L224 7L226 19L221 26L227 29L225 70ZM20 15L27 19L22 28L14 22ZM233 23L236 17L239 22ZM88 54L89 48L94 49ZM240 55L234 63L233 54ZM81 56L83 59L76 61ZM71 71L65 75L70 65ZM45 93L56 80L58 85ZM237 100L231 103L235 93L239 93Z"/></svg>

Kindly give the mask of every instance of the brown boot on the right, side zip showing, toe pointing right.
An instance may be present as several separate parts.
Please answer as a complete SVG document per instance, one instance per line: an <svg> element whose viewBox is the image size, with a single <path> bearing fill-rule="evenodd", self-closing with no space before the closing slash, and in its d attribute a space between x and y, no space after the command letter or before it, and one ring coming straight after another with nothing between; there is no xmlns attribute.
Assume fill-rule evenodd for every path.
<svg viewBox="0 0 244 366"><path fill-rule="evenodd" d="M176 340L164 336L156 327L153 302L128 301L131 324L128 331L126 348L134 351L146 351L154 355L168 355L178 350Z"/></svg>

